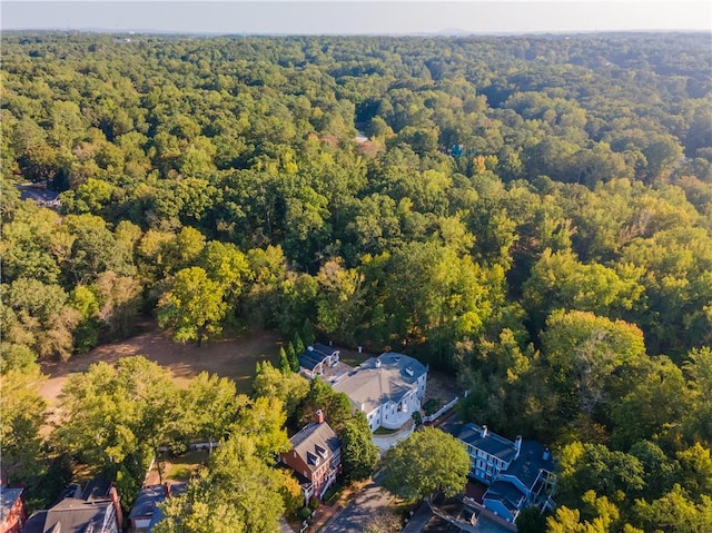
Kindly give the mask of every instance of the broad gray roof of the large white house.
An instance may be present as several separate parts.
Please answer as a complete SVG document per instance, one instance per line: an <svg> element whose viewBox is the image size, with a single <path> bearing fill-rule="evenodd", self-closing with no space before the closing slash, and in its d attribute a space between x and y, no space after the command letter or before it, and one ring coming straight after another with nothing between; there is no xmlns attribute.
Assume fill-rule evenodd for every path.
<svg viewBox="0 0 712 533"><path fill-rule="evenodd" d="M417 359L389 352L362 363L336 382L334 391L345 393L356 408L363 405L369 413L388 401L399 402L417 388L417 381L425 373L427 368Z"/></svg>

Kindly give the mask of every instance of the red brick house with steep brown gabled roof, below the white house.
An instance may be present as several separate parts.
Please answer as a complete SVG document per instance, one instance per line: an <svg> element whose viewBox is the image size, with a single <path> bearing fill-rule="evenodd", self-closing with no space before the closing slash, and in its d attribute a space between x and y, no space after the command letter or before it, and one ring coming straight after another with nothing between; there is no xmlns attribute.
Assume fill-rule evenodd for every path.
<svg viewBox="0 0 712 533"><path fill-rule="evenodd" d="M279 454L279 460L296 472L305 503L324 493L342 471L342 442L324 422L322 412L317 421L305 426L290 438L291 450Z"/></svg>

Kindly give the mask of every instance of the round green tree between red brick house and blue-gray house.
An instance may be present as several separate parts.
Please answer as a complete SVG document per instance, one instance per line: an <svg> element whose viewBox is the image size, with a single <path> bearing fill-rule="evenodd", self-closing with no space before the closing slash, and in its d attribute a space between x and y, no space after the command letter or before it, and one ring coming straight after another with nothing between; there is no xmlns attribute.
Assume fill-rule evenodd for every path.
<svg viewBox="0 0 712 533"><path fill-rule="evenodd" d="M383 486L393 494L419 500L436 491L454 496L465 488L469 455L454 436L425 427L386 452Z"/></svg>

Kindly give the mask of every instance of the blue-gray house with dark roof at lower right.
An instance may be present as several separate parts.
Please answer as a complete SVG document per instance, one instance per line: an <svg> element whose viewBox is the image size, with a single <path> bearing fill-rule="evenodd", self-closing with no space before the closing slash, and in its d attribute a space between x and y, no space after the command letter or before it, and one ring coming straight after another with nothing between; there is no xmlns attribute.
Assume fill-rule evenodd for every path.
<svg viewBox="0 0 712 533"><path fill-rule="evenodd" d="M483 505L514 523L528 506L554 509L554 461L536 441L514 442L492 433L487 426L467 424L457 436L469 454L469 476L487 485Z"/></svg>

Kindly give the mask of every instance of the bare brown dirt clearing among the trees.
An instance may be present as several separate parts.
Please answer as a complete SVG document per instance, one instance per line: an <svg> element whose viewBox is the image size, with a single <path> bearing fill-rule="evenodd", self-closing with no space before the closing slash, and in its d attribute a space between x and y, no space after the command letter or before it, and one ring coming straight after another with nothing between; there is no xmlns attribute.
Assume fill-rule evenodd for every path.
<svg viewBox="0 0 712 533"><path fill-rule="evenodd" d="M192 377L206 371L234 379L239 392L249 393L257 362L269 359L275 364L279 344L275 332L258 330L211 340L198 347L195 343L176 344L162 332L151 329L119 343L99 346L63 363L43 363L42 372L49 379L40 387L40 394L53 403L69 375L85 372L101 361L113 364L130 355L142 355L168 368L180 386L186 386Z"/></svg>

